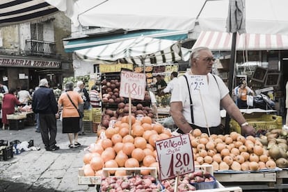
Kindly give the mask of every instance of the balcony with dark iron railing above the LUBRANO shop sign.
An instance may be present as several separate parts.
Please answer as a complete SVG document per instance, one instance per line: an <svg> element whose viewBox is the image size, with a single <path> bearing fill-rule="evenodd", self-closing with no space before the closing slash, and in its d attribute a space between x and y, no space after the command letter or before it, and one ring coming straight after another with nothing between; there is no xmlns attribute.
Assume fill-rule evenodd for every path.
<svg viewBox="0 0 288 192"><path fill-rule="evenodd" d="M56 44L55 42L26 40L25 53L26 55L54 57L56 56Z"/></svg>

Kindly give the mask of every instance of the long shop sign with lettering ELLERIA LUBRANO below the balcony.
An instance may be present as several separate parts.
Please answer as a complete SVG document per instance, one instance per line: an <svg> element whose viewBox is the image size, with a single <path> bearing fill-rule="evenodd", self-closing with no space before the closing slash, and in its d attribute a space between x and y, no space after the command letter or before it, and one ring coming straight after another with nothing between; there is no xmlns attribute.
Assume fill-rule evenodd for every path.
<svg viewBox="0 0 288 192"><path fill-rule="evenodd" d="M47 67L47 68L59 68L61 62L52 60L27 60L22 58L2 58L0 57L0 66L9 67Z"/></svg>

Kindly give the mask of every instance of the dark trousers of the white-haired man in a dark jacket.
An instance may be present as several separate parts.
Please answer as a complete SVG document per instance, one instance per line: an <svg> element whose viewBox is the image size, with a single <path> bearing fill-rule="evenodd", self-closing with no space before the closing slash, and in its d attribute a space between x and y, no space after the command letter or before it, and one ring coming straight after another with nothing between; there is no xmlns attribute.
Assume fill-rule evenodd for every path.
<svg viewBox="0 0 288 192"><path fill-rule="evenodd" d="M55 114L39 114L39 121L41 137L45 148L55 146L57 133Z"/></svg>

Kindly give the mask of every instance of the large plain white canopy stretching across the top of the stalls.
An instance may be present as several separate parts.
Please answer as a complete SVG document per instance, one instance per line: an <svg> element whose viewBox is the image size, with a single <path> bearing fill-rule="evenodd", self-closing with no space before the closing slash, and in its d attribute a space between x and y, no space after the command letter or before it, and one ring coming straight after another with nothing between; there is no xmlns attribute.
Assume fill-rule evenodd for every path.
<svg viewBox="0 0 288 192"><path fill-rule="evenodd" d="M46 1L57 8L67 2ZM225 32L229 7L229 0L207 0L206 3L205 0L78 0L77 3L92 8L74 11L74 15L69 6L66 10L61 6L61 10L70 10L68 16L74 24L79 21L82 26L193 30L198 21L199 32ZM247 33L288 34L287 0L248 0L244 5Z"/></svg>

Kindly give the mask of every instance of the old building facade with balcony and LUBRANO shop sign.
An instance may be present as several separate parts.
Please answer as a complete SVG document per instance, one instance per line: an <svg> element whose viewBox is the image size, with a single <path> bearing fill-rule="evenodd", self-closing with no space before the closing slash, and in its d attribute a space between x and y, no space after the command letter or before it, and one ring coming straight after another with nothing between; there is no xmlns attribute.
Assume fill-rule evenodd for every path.
<svg viewBox="0 0 288 192"><path fill-rule="evenodd" d="M50 87L73 76L72 53L65 53L62 39L71 34L71 22L58 12L41 20L0 28L0 81L8 88L29 89L41 78Z"/></svg>

